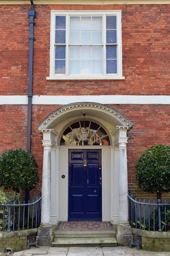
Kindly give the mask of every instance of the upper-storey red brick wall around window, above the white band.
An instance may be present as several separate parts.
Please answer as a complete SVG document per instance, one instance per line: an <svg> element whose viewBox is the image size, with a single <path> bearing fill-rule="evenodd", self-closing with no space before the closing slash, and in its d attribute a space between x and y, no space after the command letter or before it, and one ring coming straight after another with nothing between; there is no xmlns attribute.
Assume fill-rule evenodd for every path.
<svg viewBox="0 0 170 256"><path fill-rule="evenodd" d="M0 6L0 93L23 95L28 84L30 6ZM34 95L168 95L170 93L170 5L37 5L34 26ZM125 81L47 81L50 11L122 10ZM3 79L2 79L3 77ZM80 90L82 88L82 90Z"/></svg>

